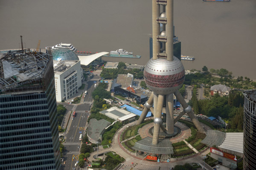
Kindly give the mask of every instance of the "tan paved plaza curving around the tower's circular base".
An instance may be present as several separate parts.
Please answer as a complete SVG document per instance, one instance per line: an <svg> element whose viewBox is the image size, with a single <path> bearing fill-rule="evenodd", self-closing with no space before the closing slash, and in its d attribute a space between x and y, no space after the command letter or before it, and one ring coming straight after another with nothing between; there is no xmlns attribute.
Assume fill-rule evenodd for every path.
<svg viewBox="0 0 256 170"><path fill-rule="evenodd" d="M120 128L114 136L113 143L111 144L111 147L98 151L99 154L113 151L113 152L116 152L117 154L119 154L120 156L122 156L123 158L125 158L125 162L122 164L122 167L120 167L119 170L131 170L131 168L133 168L133 170L159 170L159 169L160 170L169 170L171 167L175 167L175 165L192 163L192 162L198 162L203 167L204 162L202 159L202 155L209 153L209 149L207 149L203 153L197 154L195 156L178 158L178 159L172 158L170 162L160 162L160 163L144 160L143 156L138 156L138 157L135 156L135 153L130 152L129 150L125 149L120 144L120 141L119 141L120 135L122 134L123 130L125 130L125 128L127 128L127 126L132 126L135 124L136 124L136 122L132 122L132 123ZM145 125L140 130L140 135L141 135L141 133L144 133L143 134L144 138L149 135L149 134L147 134L147 135L145 135L145 134L146 134L147 129L152 127L152 124L151 124L151 126L150 126L150 124ZM191 136L190 129L188 127L186 127L186 125L184 125L182 123L176 123L175 125L180 127L180 129L184 130L184 132L182 131L182 134L180 136L170 139L171 142L176 143L176 142L179 142L179 141ZM91 153L88 160L89 161L95 160L93 157L96 158L96 155L97 155L97 152ZM209 165L207 165L207 164L205 165L205 167L206 167L205 168L206 170L213 170L212 167L209 167Z"/></svg>

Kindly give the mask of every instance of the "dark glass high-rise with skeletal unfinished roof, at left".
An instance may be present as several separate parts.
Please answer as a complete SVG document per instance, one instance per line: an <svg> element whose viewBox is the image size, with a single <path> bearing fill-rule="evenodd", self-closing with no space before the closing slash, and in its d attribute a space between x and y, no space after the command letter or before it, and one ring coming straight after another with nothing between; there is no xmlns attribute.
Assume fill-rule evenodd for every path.
<svg viewBox="0 0 256 170"><path fill-rule="evenodd" d="M0 170L59 170L52 57L8 52L0 73Z"/></svg>

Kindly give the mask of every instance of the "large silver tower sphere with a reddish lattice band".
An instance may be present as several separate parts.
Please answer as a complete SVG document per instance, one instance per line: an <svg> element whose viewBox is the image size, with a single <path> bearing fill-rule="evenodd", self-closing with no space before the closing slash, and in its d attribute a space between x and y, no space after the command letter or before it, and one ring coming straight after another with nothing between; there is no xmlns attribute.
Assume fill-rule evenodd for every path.
<svg viewBox="0 0 256 170"><path fill-rule="evenodd" d="M157 94L171 94L183 84L185 70L175 56L173 61L164 58L151 58L145 66L144 79L148 88Z"/></svg>

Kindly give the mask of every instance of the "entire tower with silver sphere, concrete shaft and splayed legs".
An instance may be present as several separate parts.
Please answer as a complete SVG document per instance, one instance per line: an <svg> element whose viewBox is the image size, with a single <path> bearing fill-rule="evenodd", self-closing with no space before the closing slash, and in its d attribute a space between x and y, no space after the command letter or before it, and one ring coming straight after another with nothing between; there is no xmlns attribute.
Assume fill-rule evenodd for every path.
<svg viewBox="0 0 256 170"><path fill-rule="evenodd" d="M163 8L161 14L160 6ZM160 23L163 24L161 33ZM180 60L173 56L173 0L152 0L152 28L153 58L145 66L144 79L148 88L153 92L145 103L145 108L137 121L137 125L143 122L148 111L151 110L154 114L152 145L158 143L160 128L167 134L173 134L174 124L185 113L188 114L199 132L205 133L191 107L178 91L184 82L185 70ZM160 42L163 43L162 51L160 51ZM176 119L174 119L173 113L173 95L184 108ZM154 108L152 108L153 104ZM161 118L164 105L166 105L166 127L163 126Z"/></svg>

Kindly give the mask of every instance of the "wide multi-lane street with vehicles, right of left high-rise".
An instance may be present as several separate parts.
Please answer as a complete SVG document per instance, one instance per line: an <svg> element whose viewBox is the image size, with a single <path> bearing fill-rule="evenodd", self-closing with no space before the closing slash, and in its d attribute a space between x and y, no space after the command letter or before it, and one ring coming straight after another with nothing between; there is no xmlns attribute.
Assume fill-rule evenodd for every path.
<svg viewBox="0 0 256 170"><path fill-rule="evenodd" d="M99 76L93 75L93 77L86 82L84 90L79 90L76 96L81 96L84 91L87 91L87 95L84 98L81 98L81 101L79 104L68 104L68 101L71 101L71 99L68 99L68 101L64 103L58 103L65 105L67 108L66 116L63 120L62 128L65 128L65 125L67 124L68 117L70 116L70 121L67 125L67 130L64 133L65 136L65 142L64 144L64 152L63 152L63 162L61 169L62 170L73 170L75 167L76 161L78 161L79 156L79 150L81 147L81 141L79 140L80 134L82 136L85 135L86 125L87 125L87 119L90 112L90 105L93 102L92 98L92 92L95 89L94 84L98 82ZM74 97L73 97L74 98ZM73 99L72 98L72 99ZM84 102L83 102L84 101ZM76 111L76 116L73 118L73 112ZM65 164L64 164L65 162Z"/></svg>

